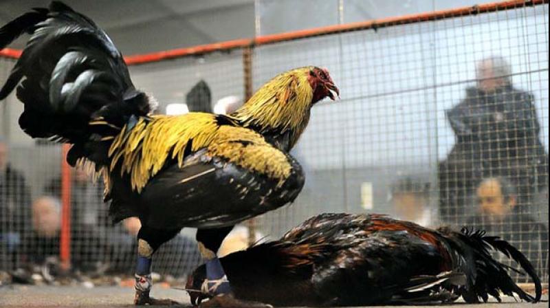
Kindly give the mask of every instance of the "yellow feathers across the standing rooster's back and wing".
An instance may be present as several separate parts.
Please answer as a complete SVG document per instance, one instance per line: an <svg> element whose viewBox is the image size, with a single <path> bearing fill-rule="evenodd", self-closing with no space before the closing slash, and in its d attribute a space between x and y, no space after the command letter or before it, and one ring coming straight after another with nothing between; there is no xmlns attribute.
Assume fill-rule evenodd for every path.
<svg viewBox="0 0 550 308"><path fill-rule="evenodd" d="M120 164L120 175L129 174L133 190L141 192L167 159L184 164L184 153L206 148L208 157L220 157L276 179L282 184L290 175L286 155L268 144L262 135L231 125L219 126L216 115L155 115L138 120L129 133L126 126L109 151L111 172Z"/></svg>

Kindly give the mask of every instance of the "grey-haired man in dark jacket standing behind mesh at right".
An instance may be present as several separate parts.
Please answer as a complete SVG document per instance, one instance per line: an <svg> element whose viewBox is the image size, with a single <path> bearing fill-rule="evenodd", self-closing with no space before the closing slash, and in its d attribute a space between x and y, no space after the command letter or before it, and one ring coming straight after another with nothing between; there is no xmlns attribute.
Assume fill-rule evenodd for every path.
<svg viewBox="0 0 550 308"><path fill-rule="evenodd" d="M548 155L539 140L533 95L511 84L504 58L485 58L477 65L476 87L449 111L456 144L439 164L440 211L443 219L463 217L467 196L483 177L515 177L518 203L548 184Z"/></svg>

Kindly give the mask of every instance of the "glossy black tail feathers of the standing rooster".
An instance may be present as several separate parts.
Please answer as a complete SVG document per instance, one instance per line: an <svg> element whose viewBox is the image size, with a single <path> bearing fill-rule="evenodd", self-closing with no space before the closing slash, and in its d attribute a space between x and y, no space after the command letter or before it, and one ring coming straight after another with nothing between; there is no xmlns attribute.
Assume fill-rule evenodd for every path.
<svg viewBox="0 0 550 308"><path fill-rule="evenodd" d="M3 26L0 48L24 32L30 39L0 99L17 87L25 104L19 125L31 137L75 144L75 160L88 155L87 142L109 143L132 116L152 111L153 102L133 86L122 54L88 17L53 1Z"/></svg>

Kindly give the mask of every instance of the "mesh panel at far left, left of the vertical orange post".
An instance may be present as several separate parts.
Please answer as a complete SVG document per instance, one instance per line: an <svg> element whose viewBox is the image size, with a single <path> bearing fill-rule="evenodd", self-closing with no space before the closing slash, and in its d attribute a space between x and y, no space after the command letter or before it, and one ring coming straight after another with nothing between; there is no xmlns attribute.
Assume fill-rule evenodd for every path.
<svg viewBox="0 0 550 308"><path fill-rule="evenodd" d="M0 59L0 82L15 61ZM57 246L61 204L41 202L43 188L60 175L61 147L34 142L17 124L23 105L14 94L1 102L0 270L14 270L41 259L42 248ZM50 239L37 245L37 239ZM47 247L50 246L50 247ZM58 255L58 249L52 250Z"/></svg>

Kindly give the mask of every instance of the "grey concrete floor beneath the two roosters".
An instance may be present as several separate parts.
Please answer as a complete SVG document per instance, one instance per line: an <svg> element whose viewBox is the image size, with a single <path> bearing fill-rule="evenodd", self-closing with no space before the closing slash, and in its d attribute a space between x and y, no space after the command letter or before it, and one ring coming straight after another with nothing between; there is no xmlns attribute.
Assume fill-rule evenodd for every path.
<svg viewBox="0 0 550 308"><path fill-rule="evenodd" d="M171 298L191 307L187 293L177 289L154 288L153 296ZM547 299L547 296L544 296ZM133 289L129 287L50 287L10 285L0 287L0 307L134 307ZM515 303L513 298L506 298L507 303L491 303L484 308L542 308L548 303L529 305ZM472 307L472 305L452 304L452 308ZM434 306L428 306L430 308Z"/></svg>

